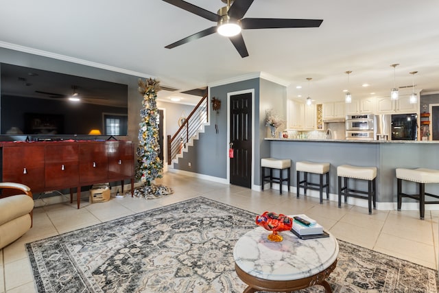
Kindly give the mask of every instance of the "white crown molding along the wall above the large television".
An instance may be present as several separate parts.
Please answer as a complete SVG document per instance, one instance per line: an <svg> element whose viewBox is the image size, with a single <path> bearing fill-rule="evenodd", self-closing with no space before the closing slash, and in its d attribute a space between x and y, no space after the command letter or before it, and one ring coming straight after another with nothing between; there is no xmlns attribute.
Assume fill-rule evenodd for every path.
<svg viewBox="0 0 439 293"><path fill-rule="evenodd" d="M86 66L95 67L95 68L99 68L99 69L105 69L108 71L115 71L115 72L123 73L123 74L127 74L127 75L138 76L139 78L156 78L152 75L148 75L148 74L137 72L137 71L131 71L131 70L122 69L119 67L112 67L110 65L104 65L102 63L91 62L91 61L80 59L80 58L73 58L70 56L51 53L49 51L43 51L43 50L39 50L39 49L29 48L29 47L25 47L25 46L21 46L21 45L15 45L12 43L6 43L6 42L2 42L2 41L0 41L0 47L3 47L5 49L12 49L15 51L21 51L24 53L34 54L34 55L38 55L38 56L53 58L53 59L57 59L57 60L72 62L75 64L86 65Z"/></svg>

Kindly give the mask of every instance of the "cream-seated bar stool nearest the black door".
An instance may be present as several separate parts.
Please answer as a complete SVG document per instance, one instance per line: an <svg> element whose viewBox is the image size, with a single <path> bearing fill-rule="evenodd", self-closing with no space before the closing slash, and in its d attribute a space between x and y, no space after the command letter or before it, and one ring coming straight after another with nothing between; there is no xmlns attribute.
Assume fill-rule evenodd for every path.
<svg viewBox="0 0 439 293"><path fill-rule="evenodd" d="M265 168L270 169L270 175L265 176ZM279 170L279 177L273 177L273 169ZM283 170L287 169L287 178L283 178ZM287 181L289 192L289 177L291 174L291 160L290 159L274 159L264 158L261 159L261 183L262 190L265 182L270 182L270 189L273 187L273 183L279 183L279 191L282 194L282 183Z"/></svg>

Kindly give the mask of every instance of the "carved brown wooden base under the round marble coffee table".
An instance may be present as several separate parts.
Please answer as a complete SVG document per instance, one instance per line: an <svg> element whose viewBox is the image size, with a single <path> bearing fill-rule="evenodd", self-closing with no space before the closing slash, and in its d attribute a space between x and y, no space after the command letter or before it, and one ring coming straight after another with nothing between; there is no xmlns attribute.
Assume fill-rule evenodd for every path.
<svg viewBox="0 0 439 293"><path fill-rule="evenodd" d="M244 272L244 270L241 270L236 263L235 270L239 279L248 285L248 288L244 290L244 293L254 293L261 290L272 292L293 292L313 285L322 285L327 293L332 293L331 285L329 285L326 279L329 277L329 274L333 272L335 266L337 266L337 259L335 259L329 268L322 272L314 274L311 277L290 281L272 281L254 277L251 274Z"/></svg>

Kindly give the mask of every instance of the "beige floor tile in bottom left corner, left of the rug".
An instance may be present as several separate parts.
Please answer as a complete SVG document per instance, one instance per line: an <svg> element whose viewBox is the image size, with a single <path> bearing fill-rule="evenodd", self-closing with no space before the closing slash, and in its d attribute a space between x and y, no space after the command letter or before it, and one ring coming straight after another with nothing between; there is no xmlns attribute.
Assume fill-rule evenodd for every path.
<svg viewBox="0 0 439 293"><path fill-rule="evenodd" d="M32 268L29 259L19 259L12 263L5 263L5 288L6 291L17 288L26 283L33 282Z"/></svg>

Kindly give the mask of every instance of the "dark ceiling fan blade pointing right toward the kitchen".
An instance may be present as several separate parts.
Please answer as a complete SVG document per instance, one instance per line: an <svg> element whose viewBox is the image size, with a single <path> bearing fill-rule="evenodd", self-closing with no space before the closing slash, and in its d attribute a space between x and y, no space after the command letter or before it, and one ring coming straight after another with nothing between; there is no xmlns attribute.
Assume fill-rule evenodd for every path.
<svg viewBox="0 0 439 293"><path fill-rule="evenodd" d="M241 19L241 27L248 29L279 29L286 27L320 27L322 19Z"/></svg>

